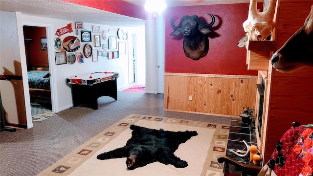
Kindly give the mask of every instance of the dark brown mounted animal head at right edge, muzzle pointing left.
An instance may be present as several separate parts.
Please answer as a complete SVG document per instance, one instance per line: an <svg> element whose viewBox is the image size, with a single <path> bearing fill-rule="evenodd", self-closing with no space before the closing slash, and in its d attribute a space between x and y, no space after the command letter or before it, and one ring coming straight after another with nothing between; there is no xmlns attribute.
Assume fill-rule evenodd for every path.
<svg viewBox="0 0 313 176"><path fill-rule="evenodd" d="M313 66L313 5L304 25L273 54L271 63L279 72Z"/></svg>

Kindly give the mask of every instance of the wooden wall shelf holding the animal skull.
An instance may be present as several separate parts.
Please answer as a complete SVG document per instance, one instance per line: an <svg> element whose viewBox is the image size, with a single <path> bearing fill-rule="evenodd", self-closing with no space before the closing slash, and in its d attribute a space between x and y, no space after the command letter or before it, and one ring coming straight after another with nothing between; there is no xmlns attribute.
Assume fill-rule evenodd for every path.
<svg viewBox="0 0 313 176"><path fill-rule="evenodd" d="M247 41L246 64L248 70L268 70L269 56L276 41Z"/></svg>

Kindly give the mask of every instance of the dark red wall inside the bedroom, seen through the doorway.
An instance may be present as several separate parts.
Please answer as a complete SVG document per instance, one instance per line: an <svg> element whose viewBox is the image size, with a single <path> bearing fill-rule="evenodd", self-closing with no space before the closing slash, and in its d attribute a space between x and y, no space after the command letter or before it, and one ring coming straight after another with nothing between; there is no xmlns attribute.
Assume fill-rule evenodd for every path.
<svg viewBox="0 0 313 176"><path fill-rule="evenodd" d="M46 38L45 27L23 26L23 32L24 39L32 39L29 43L30 63L28 63L28 51L25 44L27 64L48 67L48 51L41 49L41 38Z"/></svg>

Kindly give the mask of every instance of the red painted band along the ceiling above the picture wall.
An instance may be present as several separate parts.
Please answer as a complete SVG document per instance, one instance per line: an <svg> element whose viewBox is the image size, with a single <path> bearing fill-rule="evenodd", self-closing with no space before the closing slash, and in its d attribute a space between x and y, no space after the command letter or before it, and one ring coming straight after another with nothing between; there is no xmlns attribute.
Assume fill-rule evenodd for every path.
<svg viewBox="0 0 313 176"><path fill-rule="evenodd" d="M143 7L124 0L60 0L145 20Z"/></svg>

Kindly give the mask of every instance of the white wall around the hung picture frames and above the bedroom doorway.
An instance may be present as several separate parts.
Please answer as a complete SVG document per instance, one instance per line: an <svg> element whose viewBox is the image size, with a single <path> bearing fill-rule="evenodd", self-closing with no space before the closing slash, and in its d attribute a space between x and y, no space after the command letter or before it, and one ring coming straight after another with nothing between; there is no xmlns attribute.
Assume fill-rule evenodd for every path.
<svg viewBox="0 0 313 176"><path fill-rule="evenodd" d="M64 64L64 65L55 65L54 60L54 52L55 50L53 42L54 39L57 37L55 35L55 32L58 28L62 28L64 26L67 26L68 23L72 23L73 32L67 33L61 36L61 39L63 40L67 36L76 36L75 34L75 22L71 21L63 21L63 20L57 20L57 19L49 19L49 18L41 18L41 17L35 17L35 16L28 16L28 15L22 15L22 22L25 25L33 24L33 22L36 22L38 24L47 24L51 25L50 32L47 33L47 38L50 38L49 45L48 45L48 52L49 52L49 65L51 69L51 89L55 92L57 92L56 99L58 107L56 107L56 111L65 110L72 106L72 98L71 98L71 89L70 87L65 84L65 80L67 77L75 76L79 74L87 74L91 72L96 71L113 71L118 72L120 74L120 77L117 78L117 88L123 88L128 86L128 54L120 54L119 58L117 59L108 59L107 57L99 57L98 62L92 62L92 58L84 58L84 63L79 64L78 62L75 62L73 65ZM92 24L84 22L84 29L92 31L92 25L99 25L99 24ZM124 41L122 39L117 38L117 29L120 28L120 26L108 26L108 25L99 25L101 28L100 34L91 34L92 35L92 42L91 43L81 43L81 47L78 51L83 53L83 47L85 44L91 44L94 45L94 35L101 35L101 44L108 44L108 40L104 40L102 37L102 32L104 30L109 31L109 27L112 29L114 28L115 31L109 33L109 36L116 37L116 41L118 42L125 42L126 48L128 49L128 40ZM137 30L131 30L130 28L121 27L124 32L128 32L128 36L131 37L130 33L137 32ZM143 26L141 28L144 28ZM141 29L142 31L142 29ZM141 32L140 31L140 32ZM79 31L79 39L80 39L80 31ZM138 36L144 36L144 33L138 34ZM138 40L138 39L137 39ZM142 39L141 39L142 40ZM101 50L101 47L93 47L94 49ZM113 51L117 49L112 49L109 51ZM76 51L76 52L78 52ZM69 52L67 52L68 54ZM128 51L126 51L128 53ZM141 57L142 60L145 58Z"/></svg>

